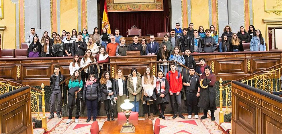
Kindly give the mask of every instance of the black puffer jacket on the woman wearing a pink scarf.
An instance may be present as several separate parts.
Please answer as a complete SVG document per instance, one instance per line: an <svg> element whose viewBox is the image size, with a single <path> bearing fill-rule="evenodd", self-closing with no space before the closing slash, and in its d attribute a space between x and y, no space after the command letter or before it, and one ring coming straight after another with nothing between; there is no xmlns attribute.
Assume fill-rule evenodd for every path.
<svg viewBox="0 0 282 134"><path fill-rule="evenodd" d="M101 90L100 90L100 83L97 80L92 85L84 86L82 90L82 98L83 100L86 98L87 100L95 100L98 98L98 101L101 101Z"/></svg>

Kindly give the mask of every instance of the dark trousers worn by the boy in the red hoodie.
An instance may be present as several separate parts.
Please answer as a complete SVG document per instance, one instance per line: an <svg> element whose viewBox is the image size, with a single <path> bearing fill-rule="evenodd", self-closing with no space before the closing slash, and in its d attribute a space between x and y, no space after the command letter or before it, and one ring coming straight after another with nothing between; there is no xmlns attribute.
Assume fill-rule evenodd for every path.
<svg viewBox="0 0 282 134"><path fill-rule="evenodd" d="M169 95L171 99L171 108L173 109L173 113L181 114L181 93L179 95L176 95L176 93L173 93L173 95Z"/></svg>

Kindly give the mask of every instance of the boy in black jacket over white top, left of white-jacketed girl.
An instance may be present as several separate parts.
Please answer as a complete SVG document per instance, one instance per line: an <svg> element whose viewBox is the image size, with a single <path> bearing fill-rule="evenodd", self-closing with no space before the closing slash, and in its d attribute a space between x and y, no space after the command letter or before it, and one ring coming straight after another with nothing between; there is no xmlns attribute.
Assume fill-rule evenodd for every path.
<svg viewBox="0 0 282 134"><path fill-rule="evenodd" d="M84 56L85 50L87 49L87 44L82 40L82 33L77 34L77 39L73 42L71 46L71 55L78 54L79 56Z"/></svg>

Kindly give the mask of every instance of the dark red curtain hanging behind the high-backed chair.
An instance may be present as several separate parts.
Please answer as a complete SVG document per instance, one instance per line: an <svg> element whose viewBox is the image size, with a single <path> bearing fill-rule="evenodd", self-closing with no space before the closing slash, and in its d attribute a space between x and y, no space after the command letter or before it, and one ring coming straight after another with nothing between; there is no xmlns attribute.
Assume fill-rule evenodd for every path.
<svg viewBox="0 0 282 134"><path fill-rule="evenodd" d="M104 1L100 1L100 10L103 10ZM136 25L141 29L141 35L154 34L168 31L169 17L168 0L164 0L164 11L138 11L138 12L108 12L111 33L114 34L115 28L120 29L120 35L127 36L127 29ZM103 11L100 11L103 16ZM100 26L101 29L101 26Z"/></svg>

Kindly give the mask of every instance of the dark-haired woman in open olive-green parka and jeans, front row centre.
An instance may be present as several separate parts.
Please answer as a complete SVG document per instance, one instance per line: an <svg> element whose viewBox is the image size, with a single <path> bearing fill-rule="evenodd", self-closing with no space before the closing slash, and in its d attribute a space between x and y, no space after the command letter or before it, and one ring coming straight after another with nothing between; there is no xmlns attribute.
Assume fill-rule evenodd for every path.
<svg viewBox="0 0 282 134"><path fill-rule="evenodd" d="M131 69L131 73L127 79L128 98L130 103L134 105L131 111L139 112L139 101L142 96L142 80L141 74L137 72L136 68Z"/></svg>

